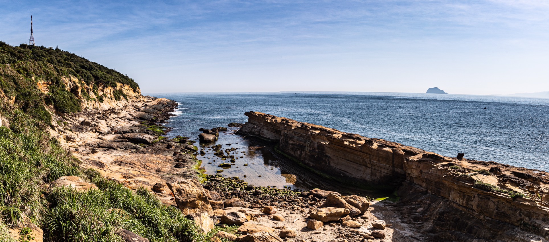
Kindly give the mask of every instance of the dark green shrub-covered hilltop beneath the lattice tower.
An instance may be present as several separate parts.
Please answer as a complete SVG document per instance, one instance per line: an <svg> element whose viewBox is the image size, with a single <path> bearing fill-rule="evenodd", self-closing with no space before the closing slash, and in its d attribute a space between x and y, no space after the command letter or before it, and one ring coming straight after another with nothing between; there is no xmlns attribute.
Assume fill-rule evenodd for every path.
<svg viewBox="0 0 549 242"><path fill-rule="evenodd" d="M67 90L61 77L74 76L89 90ZM38 90L37 81L49 83L49 92ZM15 97L15 104L38 120L51 122L51 115L44 105L53 105L59 112L80 111L83 99L91 100L91 93L103 102L100 87L116 87L117 83L128 85L137 92L139 86L130 77L78 55L46 47L9 46L0 42L0 89L8 98ZM79 95L80 94L80 97ZM115 89L114 98L120 100L125 94Z"/></svg>

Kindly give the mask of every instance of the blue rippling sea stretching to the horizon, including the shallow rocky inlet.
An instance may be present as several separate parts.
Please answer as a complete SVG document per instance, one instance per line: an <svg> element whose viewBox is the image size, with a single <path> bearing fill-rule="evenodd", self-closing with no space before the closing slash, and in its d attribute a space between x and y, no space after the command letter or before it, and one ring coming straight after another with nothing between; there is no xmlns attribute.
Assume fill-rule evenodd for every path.
<svg viewBox="0 0 549 242"><path fill-rule="evenodd" d="M244 123L247 121L244 112L253 110L391 140L445 156L465 153L468 159L549 171L549 99L359 92L150 95L180 104L174 112L176 116L167 124L173 128L170 136L197 139L199 128ZM239 149L254 145L245 140L237 142L241 139L229 131L220 136L218 143L226 140L239 143ZM269 161L265 161L265 157L258 158L264 160L264 167L273 168L268 171L287 178L281 176L284 171L276 164L268 165L278 158L271 154L266 156ZM212 161L210 166L206 165L206 170L214 173L214 165ZM233 168L234 174L242 175L242 168Z"/></svg>

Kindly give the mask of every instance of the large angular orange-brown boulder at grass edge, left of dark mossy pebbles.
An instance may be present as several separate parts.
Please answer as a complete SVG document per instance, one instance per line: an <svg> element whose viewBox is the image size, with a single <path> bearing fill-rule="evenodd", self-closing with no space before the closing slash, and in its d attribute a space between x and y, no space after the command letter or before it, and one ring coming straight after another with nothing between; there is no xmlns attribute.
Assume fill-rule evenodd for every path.
<svg viewBox="0 0 549 242"><path fill-rule="evenodd" d="M195 179L183 179L177 182L166 183L175 197L177 207L185 214L207 212L211 214L208 196L202 185Z"/></svg>

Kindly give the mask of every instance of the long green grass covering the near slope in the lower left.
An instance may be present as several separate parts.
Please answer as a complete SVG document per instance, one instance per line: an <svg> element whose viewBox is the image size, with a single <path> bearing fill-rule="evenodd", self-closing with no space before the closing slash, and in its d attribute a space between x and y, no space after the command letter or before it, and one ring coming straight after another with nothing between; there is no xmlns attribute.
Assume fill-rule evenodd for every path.
<svg viewBox="0 0 549 242"><path fill-rule="evenodd" d="M47 241L122 241L115 233L120 228L150 241L204 240L192 221L146 189L132 192L97 171L81 170L44 122L3 101L0 115L10 123L0 127L0 238L5 225L28 218ZM79 176L99 189L49 188L61 176Z"/></svg>

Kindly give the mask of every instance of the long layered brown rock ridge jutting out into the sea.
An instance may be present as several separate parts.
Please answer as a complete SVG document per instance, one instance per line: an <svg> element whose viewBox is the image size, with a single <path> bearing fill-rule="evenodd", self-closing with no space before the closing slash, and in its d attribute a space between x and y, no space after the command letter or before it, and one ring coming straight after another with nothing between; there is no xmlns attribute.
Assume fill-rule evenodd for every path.
<svg viewBox="0 0 549 242"><path fill-rule="evenodd" d="M403 201L416 204L406 215L429 221L425 233L435 238L530 241L548 236L547 172L444 157L261 112L245 115L249 120L241 133L278 143L280 151L302 164L374 187L400 186Z"/></svg>

